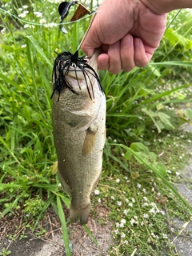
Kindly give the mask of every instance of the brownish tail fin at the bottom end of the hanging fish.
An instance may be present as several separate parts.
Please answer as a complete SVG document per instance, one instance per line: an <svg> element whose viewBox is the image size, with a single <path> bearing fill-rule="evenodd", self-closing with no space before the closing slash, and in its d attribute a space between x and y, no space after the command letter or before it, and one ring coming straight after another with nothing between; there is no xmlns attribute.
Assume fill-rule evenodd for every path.
<svg viewBox="0 0 192 256"><path fill-rule="evenodd" d="M90 215L90 204L84 206L83 208L75 208L73 204L70 205L70 221L77 222L80 219L81 225L88 222Z"/></svg>

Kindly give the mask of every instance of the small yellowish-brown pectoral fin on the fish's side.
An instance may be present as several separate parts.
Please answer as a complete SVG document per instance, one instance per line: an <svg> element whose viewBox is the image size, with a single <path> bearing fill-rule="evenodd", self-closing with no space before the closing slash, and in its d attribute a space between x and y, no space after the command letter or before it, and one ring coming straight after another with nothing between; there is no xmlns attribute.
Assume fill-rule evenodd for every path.
<svg viewBox="0 0 192 256"><path fill-rule="evenodd" d="M86 130L86 138L82 146L82 155L86 157L94 149L95 138L98 131L97 126L90 126Z"/></svg>

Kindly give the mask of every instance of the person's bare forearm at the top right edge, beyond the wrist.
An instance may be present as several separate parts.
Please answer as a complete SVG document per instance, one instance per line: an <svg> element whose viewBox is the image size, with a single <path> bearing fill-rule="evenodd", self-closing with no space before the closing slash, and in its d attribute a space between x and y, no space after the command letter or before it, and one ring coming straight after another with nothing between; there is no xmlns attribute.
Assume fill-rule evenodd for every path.
<svg viewBox="0 0 192 256"><path fill-rule="evenodd" d="M171 10L192 8L192 0L140 0L155 14L166 14Z"/></svg>

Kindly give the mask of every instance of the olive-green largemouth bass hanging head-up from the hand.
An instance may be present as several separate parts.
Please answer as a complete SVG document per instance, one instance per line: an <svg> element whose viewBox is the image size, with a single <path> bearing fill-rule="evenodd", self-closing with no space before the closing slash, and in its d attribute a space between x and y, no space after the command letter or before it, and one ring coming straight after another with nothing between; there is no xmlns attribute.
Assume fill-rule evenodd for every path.
<svg viewBox="0 0 192 256"><path fill-rule="evenodd" d="M89 65L98 72L98 50ZM85 77L86 76L86 77ZM58 154L58 177L71 194L70 221L88 222L90 193L102 172L102 150L106 138L106 98L93 75L70 70L64 88L53 95L54 143ZM74 92L75 93L74 93ZM91 94L91 97L90 97Z"/></svg>

